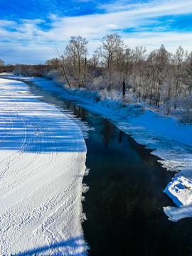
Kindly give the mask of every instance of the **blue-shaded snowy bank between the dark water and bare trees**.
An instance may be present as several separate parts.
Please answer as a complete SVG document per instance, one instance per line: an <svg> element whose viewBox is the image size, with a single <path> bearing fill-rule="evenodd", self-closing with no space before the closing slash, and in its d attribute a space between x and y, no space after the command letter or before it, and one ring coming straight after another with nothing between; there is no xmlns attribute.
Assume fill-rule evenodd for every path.
<svg viewBox="0 0 192 256"><path fill-rule="evenodd" d="M11 75L11 78L19 76ZM136 142L152 149L151 154L159 156L159 162L168 171L176 172L175 176L183 176L192 181L192 126L179 124L176 117L168 117L149 108L136 105L126 105L117 100L97 101L98 92L86 90L63 90L46 78L23 78L31 80L43 90L54 92L58 97L75 100L78 105L87 110L101 114L110 119L119 129L129 134ZM115 98L115 97L114 97ZM171 192L169 193L171 196ZM170 213L169 208L169 213ZM180 208L179 208L180 209ZM182 207L183 210L183 207ZM166 215L168 208L164 208ZM174 214L174 213L173 213ZM177 220L192 216L191 210L179 215ZM179 217L180 216L180 217ZM173 220L173 218L169 218Z"/></svg>

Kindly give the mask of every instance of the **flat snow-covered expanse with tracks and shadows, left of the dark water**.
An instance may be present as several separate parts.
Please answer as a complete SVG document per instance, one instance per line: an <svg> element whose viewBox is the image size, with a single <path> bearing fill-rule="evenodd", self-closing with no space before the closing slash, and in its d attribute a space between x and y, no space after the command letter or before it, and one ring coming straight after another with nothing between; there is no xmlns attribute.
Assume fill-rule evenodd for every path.
<svg viewBox="0 0 192 256"><path fill-rule="evenodd" d="M80 128L0 79L0 255L86 255Z"/></svg>

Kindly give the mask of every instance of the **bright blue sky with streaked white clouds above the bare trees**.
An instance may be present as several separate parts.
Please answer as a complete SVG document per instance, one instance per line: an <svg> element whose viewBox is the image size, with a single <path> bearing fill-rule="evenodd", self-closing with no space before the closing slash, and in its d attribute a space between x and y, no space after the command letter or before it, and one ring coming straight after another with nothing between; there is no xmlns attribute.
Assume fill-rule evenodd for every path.
<svg viewBox="0 0 192 256"><path fill-rule="evenodd" d="M192 0L0 0L0 58L40 64L63 53L70 36L89 41L89 57L111 33L148 53L164 44L192 50Z"/></svg>

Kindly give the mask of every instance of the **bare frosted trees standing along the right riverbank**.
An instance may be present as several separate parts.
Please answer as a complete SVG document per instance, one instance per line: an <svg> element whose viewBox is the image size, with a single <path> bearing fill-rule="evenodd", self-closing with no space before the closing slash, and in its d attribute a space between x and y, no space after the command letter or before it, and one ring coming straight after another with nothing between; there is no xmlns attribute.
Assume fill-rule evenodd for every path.
<svg viewBox="0 0 192 256"><path fill-rule="evenodd" d="M162 45L146 54L146 48L130 48L113 33L102 38L92 58L87 58L88 41L70 38L63 55L46 61L47 75L65 87L121 92L122 100L145 102L164 110L179 112L184 123L192 122L192 52L181 46L169 53ZM18 67L16 67L16 73Z"/></svg>

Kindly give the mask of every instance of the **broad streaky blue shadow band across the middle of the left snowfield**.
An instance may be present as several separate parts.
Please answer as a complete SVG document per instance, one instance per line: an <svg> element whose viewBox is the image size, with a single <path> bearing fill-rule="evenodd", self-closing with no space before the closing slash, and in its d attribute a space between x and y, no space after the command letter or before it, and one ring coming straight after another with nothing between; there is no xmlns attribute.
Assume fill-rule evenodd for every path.
<svg viewBox="0 0 192 256"><path fill-rule="evenodd" d="M10 99L5 95L1 102L0 149L31 153L86 151L80 129L55 107L33 97Z"/></svg>

